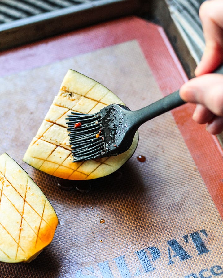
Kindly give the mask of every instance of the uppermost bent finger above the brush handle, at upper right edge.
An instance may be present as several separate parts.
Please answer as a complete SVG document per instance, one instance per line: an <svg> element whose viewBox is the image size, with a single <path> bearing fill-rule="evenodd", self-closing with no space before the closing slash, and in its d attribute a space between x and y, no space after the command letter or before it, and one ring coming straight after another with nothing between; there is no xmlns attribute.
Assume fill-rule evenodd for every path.
<svg viewBox="0 0 223 278"><path fill-rule="evenodd" d="M213 72L223 62L223 1L209 0L203 2L199 9L205 49L195 75Z"/></svg>

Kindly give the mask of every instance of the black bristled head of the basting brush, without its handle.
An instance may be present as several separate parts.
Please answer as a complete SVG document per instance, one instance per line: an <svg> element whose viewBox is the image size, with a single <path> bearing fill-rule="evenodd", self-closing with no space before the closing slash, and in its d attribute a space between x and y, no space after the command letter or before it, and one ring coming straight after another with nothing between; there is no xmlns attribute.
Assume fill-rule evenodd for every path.
<svg viewBox="0 0 223 278"><path fill-rule="evenodd" d="M76 112L68 115L73 162L118 155L128 150L137 128L131 135L127 111L131 112L124 105L112 104L91 115Z"/></svg>

